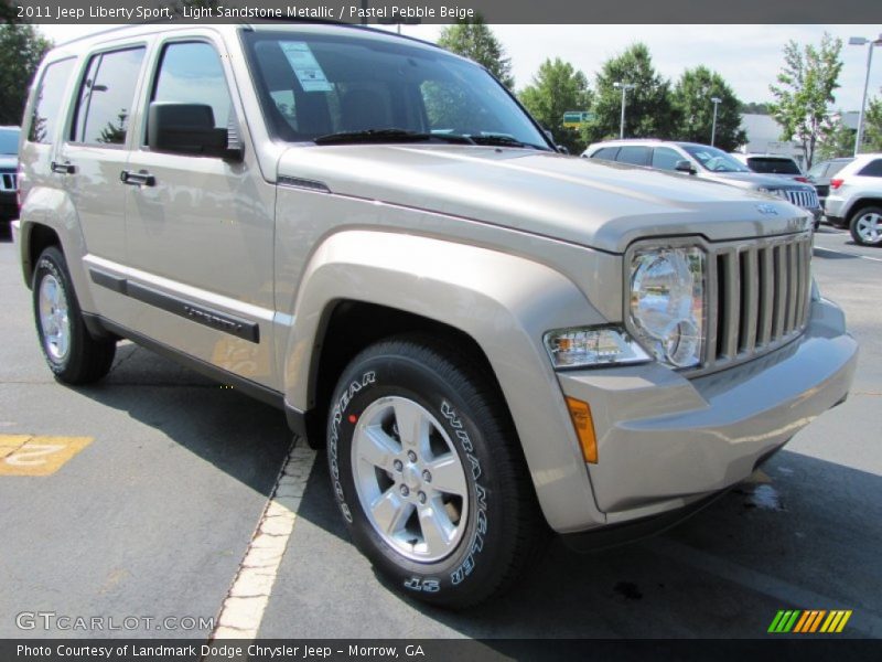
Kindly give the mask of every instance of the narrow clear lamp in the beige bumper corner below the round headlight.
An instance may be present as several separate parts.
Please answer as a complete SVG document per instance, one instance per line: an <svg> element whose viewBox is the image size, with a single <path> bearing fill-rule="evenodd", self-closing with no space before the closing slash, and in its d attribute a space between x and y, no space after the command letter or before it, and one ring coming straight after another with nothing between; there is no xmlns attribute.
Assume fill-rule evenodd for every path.
<svg viewBox="0 0 882 662"><path fill-rule="evenodd" d="M643 363L649 355L624 330L613 327L556 329L545 334L555 367Z"/></svg>

